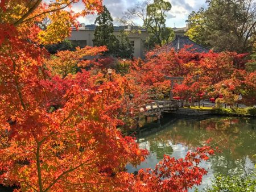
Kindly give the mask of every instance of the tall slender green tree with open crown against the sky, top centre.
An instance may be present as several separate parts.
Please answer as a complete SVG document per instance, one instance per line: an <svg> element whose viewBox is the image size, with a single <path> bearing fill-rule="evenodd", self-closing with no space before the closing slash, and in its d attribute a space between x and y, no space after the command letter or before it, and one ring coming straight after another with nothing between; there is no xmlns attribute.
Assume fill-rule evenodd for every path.
<svg viewBox="0 0 256 192"><path fill-rule="evenodd" d="M166 12L171 10L171 3L164 0L154 0L147 5L147 27L154 34L156 44L162 45L162 36L166 31Z"/></svg>

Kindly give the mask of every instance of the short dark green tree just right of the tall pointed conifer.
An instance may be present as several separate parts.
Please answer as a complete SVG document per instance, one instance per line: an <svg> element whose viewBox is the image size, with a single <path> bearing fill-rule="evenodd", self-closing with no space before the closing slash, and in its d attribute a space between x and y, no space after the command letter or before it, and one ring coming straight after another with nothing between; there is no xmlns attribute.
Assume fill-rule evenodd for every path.
<svg viewBox="0 0 256 192"><path fill-rule="evenodd" d="M126 31L120 31L119 37L119 50L117 52L117 57L132 59L134 47L131 45Z"/></svg>

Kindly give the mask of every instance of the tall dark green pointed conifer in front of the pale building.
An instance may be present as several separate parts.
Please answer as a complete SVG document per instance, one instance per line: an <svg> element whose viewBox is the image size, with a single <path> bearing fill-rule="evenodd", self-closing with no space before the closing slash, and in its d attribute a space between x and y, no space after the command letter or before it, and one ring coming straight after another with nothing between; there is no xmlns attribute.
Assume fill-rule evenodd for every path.
<svg viewBox="0 0 256 192"><path fill-rule="evenodd" d="M113 18L106 6L104 6L103 11L98 14L94 23L96 24L93 39L94 46L106 45L109 51L105 52L105 55L117 55L119 40L113 35Z"/></svg>

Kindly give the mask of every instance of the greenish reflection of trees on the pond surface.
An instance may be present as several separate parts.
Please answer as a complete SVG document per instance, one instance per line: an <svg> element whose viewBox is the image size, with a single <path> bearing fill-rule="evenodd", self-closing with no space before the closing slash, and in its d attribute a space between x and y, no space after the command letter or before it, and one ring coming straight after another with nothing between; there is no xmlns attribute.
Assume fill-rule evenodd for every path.
<svg viewBox="0 0 256 192"><path fill-rule="evenodd" d="M204 144L210 137L213 143L218 143L222 153L210 158L214 172L228 173L228 170L246 165L246 157L255 164L256 131L253 129L255 120L243 118L211 118L202 121L193 119L179 119L166 129L145 140L150 144L150 151L156 153L157 158L164 154L171 155L173 149L170 145L182 143L189 148Z"/></svg>

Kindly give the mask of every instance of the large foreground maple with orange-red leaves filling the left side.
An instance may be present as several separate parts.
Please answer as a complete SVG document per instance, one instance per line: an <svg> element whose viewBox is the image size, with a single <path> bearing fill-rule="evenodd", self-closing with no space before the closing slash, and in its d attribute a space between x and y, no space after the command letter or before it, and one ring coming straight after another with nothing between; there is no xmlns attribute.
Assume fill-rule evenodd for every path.
<svg viewBox="0 0 256 192"><path fill-rule="evenodd" d="M84 9L74 12L75 3ZM70 35L79 16L101 10L100 0L1 1L1 184L40 192L187 191L206 174L199 162L213 154L207 146L180 160L165 156L154 170L127 173L125 166L140 164L148 152L118 127L138 114L146 86L115 73L109 82L98 69L73 72L88 64L80 57L104 47L52 57L43 48Z"/></svg>

